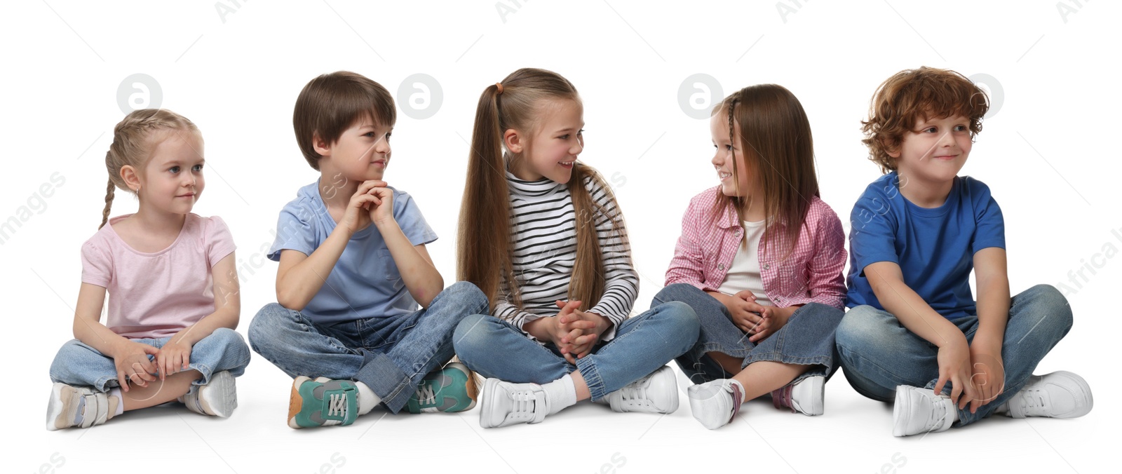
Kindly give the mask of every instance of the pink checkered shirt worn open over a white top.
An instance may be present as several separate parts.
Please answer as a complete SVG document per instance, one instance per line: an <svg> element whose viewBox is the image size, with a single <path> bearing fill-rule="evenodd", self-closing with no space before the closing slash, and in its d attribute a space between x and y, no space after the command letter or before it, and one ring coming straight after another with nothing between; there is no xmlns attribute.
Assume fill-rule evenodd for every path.
<svg viewBox="0 0 1122 474"><path fill-rule="evenodd" d="M727 208L715 218L714 200L719 186L695 195L682 216L682 235L666 270L666 284L689 283L702 291L717 291L744 237L736 211ZM769 234L771 229L769 228ZM826 202L812 198L799 240L783 259L782 250L760 246L760 276L764 292L778 307L817 302L845 308L845 230Z"/></svg>

